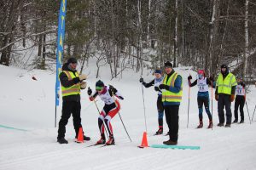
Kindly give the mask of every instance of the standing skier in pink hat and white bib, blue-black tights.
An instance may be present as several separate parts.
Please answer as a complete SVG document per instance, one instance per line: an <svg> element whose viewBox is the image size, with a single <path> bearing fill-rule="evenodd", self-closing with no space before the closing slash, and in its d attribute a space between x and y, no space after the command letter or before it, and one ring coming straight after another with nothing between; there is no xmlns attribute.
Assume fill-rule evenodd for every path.
<svg viewBox="0 0 256 170"><path fill-rule="evenodd" d="M208 128L212 128L212 115L209 109L209 88L208 86L211 85L211 81L206 77L205 72L203 70L198 71L198 78L191 84L190 80L192 79L191 76L188 77L189 86L193 87L195 84L198 86L198 94L197 94L197 105L199 110L199 125L197 128L203 127L202 121L202 113L203 113L203 105L205 105L207 116L209 118L209 125Z"/></svg>

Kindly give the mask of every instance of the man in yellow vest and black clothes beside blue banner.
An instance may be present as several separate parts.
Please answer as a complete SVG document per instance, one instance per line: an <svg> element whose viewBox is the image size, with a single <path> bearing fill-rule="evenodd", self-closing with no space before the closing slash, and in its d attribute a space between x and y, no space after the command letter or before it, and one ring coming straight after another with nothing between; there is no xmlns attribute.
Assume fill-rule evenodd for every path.
<svg viewBox="0 0 256 170"><path fill-rule="evenodd" d="M80 89L86 88L86 75L79 75L76 70L77 59L70 58L62 66L60 74L61 81L61 93L62 93L62 113L61 120L59 122L57 142L60 144L67 144L65 139L66 125L69 117L73 116L73 127L75 129L76 136L78 138L79 128L81 124L81 104L80 104ZM90 140L90 137L84 136L84 140Z"/></svg>

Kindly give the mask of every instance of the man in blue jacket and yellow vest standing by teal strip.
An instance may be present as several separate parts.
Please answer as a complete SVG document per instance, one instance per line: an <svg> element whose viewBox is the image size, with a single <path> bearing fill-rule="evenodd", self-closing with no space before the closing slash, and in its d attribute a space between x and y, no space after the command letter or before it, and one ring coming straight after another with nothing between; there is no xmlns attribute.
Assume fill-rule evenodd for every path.
<svg viewBox="0 0 256 170"><path fill-rule="evenodd" d="M172 63L165 63L166 76L159 88L162 91L162 101L169 127L169 140L163 144L175 145L178 139L178 110L183 95L183 79L172 69Z"/></svg>

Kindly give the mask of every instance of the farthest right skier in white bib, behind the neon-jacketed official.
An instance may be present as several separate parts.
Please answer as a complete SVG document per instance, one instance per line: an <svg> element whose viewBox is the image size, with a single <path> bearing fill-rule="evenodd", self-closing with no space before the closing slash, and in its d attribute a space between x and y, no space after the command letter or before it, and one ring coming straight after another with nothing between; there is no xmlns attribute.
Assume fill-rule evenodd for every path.
<svg viewBox="0 0 256 170"><path fill-rule="evenodd" d="M236 86L236 100L235 100L235 111L234 116L235 120L233 123L238 122L238 107L240 111L241 121L240 123L244 122L244 112L243 112L243 106L245 104L245 83L242 82L242 78L240 76L236 77L237 86Z"/></svg>

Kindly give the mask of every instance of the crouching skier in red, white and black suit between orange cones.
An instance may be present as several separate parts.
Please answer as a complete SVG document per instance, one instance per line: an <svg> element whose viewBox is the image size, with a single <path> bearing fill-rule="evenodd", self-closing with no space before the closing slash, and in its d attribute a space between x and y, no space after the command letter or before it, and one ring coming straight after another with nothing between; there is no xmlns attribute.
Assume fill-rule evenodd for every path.
<svg viewBox="0 0 256 170"><path fill-rule="evenodd" d="M92 94L92 91L90 88L88 88L87 94L90 96L90 101L93 101L96 99L97 95L104 101L105 105L102 109L102 112L98 118L98 126L101 133L101 139L99 139L96 144L105 144L106 143L106 137L104 134L104 122L107 126L108 133L109 133L109 139L106 143L107 145L114 144L113 139L113 129L111 126L111 119L113 119L113 116L115 116L119 110L120 110L120 104L118 99L124 99L121 94L117 91L116 88L113 88L113 86L105 86L104 83L99 80L96 82L96 92ZM91 95L92 94L92 95ZM116 96L118 99L115 99L114 96Z"/></svg>

